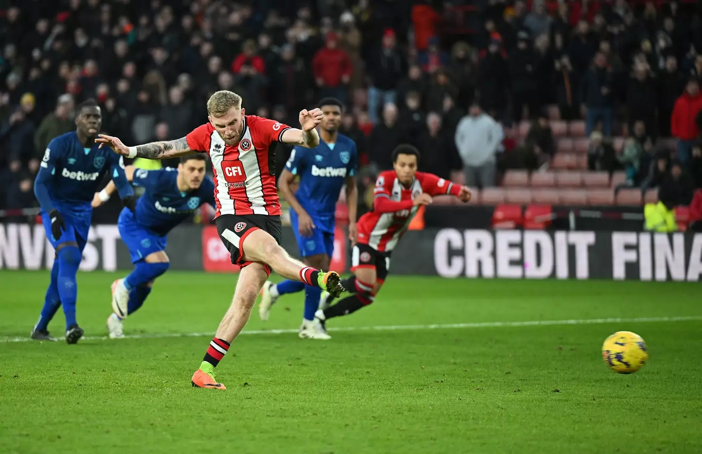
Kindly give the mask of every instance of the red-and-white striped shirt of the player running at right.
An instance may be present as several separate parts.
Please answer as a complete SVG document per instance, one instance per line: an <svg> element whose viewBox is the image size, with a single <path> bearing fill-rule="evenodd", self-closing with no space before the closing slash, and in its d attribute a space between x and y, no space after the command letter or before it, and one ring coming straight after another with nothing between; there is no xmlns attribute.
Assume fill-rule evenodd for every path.
<svg viewBox="0 0 702 454"><path fill-rule="evenodd" d="M412 200L421 193L429 195L458 195L461 185L451 183L435 174L417 172L414 181L405 188L397 179L395 170L380 172L376 180L373 211L358 220L358 242L369 245L379 252L390 252L395 248L418 205Z"/></svg>

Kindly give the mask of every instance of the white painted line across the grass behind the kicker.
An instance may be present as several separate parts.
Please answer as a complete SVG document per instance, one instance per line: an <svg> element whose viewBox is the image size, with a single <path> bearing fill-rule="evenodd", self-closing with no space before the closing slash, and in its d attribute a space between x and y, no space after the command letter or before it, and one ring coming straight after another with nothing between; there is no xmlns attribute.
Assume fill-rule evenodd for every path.
<svg viewBox="0 0 702 454"><path fill-rule="evenodd" d="M452 323L452 324L424 324L424 325L390 325L390 326L342 326L340 328L330 328L329 331L402 331L402 330L425 330L425 329L461 329L461 328L511 328L519 326L554 326L571 324L605 324L605 323L648 323L648 322L696 322L702 320L702 315L691 315L686 317L640 317L640 318L604 318L604 319L571 319L571 320L529 320L526 322L476 322L476 323ZM251 331L241 331L241 334L292 334L297 333L297 329L257 329ZM131 334L124 336L125 339L161 339L180 337L205 337L212 336L213 333L153 333L153 334ZM108 341L107 336L86 336L86 341ZM3 337L0 343L17 343L32 341L29 337Z"/></svg>

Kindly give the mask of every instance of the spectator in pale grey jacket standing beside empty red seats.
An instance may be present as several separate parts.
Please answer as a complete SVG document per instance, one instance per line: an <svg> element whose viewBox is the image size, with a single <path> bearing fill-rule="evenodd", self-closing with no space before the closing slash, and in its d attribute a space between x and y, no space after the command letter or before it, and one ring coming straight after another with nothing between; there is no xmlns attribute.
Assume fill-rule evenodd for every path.
<svg viewBox="0 0 702 454"><path fill-rule="evenodd" d="M497 150L503 137L502 126L484 114L479 104L472 104L468 115L458 123L455 137L466 185L495 186Z"/></svg>

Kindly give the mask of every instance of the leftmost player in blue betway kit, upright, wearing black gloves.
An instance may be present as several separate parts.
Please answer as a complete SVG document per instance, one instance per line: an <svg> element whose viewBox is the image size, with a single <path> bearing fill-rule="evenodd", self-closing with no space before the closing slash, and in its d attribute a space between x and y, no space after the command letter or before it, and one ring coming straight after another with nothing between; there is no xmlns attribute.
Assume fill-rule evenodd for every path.
<svg viewBox="0 0 702 454"><path fill-rule="evenodd" d="M80 104L77 112L76 131L49 142L34 180L41 221L56 252L44 308L32 330L32 339L38 341L55 341L47 327L59 306L66 317L66 342L77 343L83 336L76 321L76 273L88 240L91 200L107 172L117 184L124 205L134 209L134 192L124 175L121 156L95 144L102 125L100 107L90 99Z"/></svg>

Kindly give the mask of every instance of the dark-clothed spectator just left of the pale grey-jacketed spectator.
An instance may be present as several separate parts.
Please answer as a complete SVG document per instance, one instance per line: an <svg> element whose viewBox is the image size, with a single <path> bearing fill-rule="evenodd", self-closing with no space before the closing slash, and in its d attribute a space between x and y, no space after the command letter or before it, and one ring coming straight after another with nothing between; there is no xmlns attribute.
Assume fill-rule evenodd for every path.
<svg viewBox="0 0 702 454"><path fill-rule="evenodd" d="M426 128L418 140L418 149L422 153L420 169L451 180L451 172L463 167L461 157L458 156L451 136L442 128L441 116L430 112L426 122Z"/></svg>

